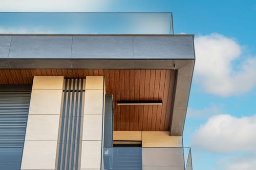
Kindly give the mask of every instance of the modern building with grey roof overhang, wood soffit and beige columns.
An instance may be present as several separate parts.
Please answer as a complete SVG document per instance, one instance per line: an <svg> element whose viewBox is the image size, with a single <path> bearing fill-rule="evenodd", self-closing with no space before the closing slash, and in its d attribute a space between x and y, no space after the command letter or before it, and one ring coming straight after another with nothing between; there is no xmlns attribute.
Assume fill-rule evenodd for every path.
<svg viewBox="0 0 256 170"><path fill-rule="evenodd" d="M193 35L174 35L171 13L74 15L135 15L146 30L0 34L0 169L192 170Z"/></svg>

